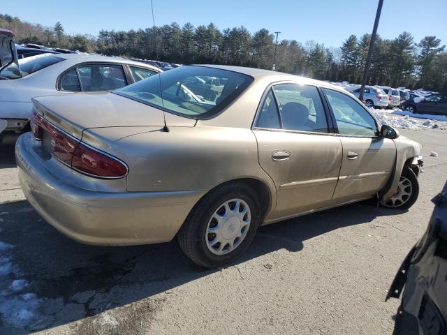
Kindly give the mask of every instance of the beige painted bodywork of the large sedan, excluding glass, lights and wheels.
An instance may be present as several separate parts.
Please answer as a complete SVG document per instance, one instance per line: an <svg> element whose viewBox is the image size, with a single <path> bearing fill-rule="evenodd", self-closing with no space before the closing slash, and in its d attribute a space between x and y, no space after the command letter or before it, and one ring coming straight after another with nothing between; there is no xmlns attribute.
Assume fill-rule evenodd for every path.
<svg viewBox="0 0 447 335"><path fill-rule="evenodd" d="M419 155L419 144L404 137L252 128L261 98L272 83L313 84L348 93L293 75L216 67L247 73L254 82L209 120L163 115L154 107L110 93L36 98L36 109L46 119L126 162L129 174L112 180L87 177L54 157L49 159L30 134L23 135L16 156L22 189L31 204L78 241L154 243L173 239L198 200L226 181L256 179L267 187L267 224L371 198L392 175L395 188L405 161ZM168 132L163 131L165 120ZM351 151L358 157L348 159ZM272 159L284 153L290 156Z"/></svg>

